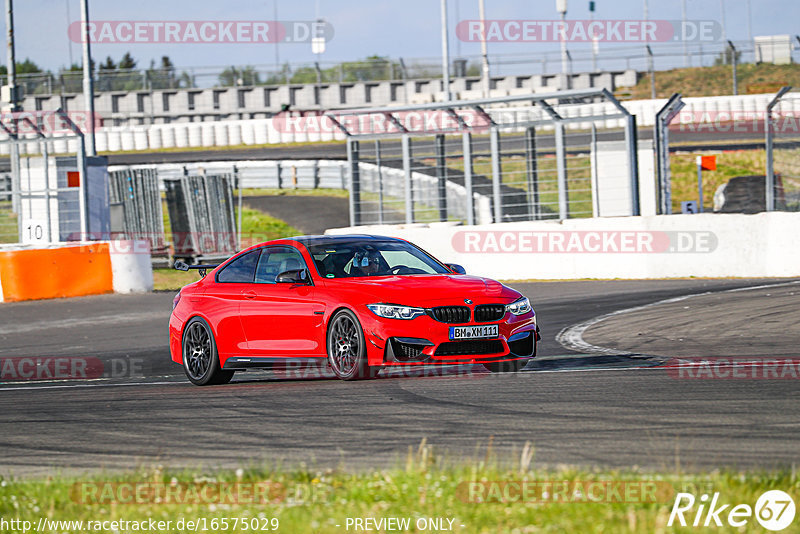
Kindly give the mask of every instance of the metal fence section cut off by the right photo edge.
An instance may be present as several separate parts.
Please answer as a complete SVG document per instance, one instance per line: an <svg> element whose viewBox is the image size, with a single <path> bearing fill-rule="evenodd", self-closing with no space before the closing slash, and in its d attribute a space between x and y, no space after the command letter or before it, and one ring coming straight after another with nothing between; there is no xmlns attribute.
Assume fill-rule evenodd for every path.
<svg viewBox="0 0 800 534"><path fill-rule="evenodd" d="M782 89L767 108L767 209L800 211L800 92Z"/></svg>

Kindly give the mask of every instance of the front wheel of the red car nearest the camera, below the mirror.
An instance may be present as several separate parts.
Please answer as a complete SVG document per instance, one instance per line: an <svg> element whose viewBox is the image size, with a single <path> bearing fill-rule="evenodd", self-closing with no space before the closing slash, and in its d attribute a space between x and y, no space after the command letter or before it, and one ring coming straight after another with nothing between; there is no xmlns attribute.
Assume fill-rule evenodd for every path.
<svg viewBox="0 0 800 534"><path fill-rule="evenodd" d="M328 362L333 373L342 380L374 378L378 368L367 363L364 329L356 314L340 310L331 318L328 328Z"/></svg>

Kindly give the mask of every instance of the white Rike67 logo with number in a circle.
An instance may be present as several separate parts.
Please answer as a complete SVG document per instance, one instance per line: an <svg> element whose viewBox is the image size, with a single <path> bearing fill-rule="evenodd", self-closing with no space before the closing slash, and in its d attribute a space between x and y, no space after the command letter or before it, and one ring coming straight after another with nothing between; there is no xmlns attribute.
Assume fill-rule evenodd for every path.
<svg viewBox="0 0 800 534"><path fill-rule="evenodd" d="M781 490L764 492L755 507L725 503L720 500L719 492L714 493L710 502L707 494L697 501L691 493L678 493L667 526L722 527L727 522L731 527L742 528L755 516L763 528L777 532L791 525L795 515L794 500Z"/></svg>

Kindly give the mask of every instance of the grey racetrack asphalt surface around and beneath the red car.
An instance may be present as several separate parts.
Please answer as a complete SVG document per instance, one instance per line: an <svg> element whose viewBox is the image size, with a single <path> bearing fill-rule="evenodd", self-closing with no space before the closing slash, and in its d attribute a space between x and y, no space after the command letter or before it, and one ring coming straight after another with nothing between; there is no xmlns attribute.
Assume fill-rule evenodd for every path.
<svg viewBox="0 0 800 534"><path fill-rule="evenodd" d="M754 342L766 321L794 332L781 338L790 345L781 354L796 356L796 298L782 297L781 313L773 314L762 290L722 292L774 283L785 281L511 283L531 297L544 335L539 358L523 372L476 369L363 382L255 372L205 388L190 385L169 360L173 293L7 303L0 306L4 362L96 357L115 376L2 384L0 473L277 461L360 469L392 465L423 438L452 457L482 455L476 448L491 440L509 461L515 447L530 441L540 466L790 466L800 459L797 380L681 380L659 367L664 358L579 354L556 341L562 329L603 314L710 291L684 300L688 308L667 304L663 313L659 305L614 316L613 328L595 325L605 330L602 338L595 327L587 338L627 342L634 328L652 336L689 325L711 341L698 342L702 356L715 347L720 315L738 315L740 333ZM640 313L652 330L642 330ZM717 353L740 350L728 337L719 340ZM664 342L662 356L671 355L670 346Z"/></svg>

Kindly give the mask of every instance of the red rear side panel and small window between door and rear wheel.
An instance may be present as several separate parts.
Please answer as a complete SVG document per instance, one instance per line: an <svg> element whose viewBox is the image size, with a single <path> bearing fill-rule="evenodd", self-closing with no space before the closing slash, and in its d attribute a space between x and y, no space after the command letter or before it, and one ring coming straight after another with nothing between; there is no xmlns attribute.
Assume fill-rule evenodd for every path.
<svg viewBox="0 0 800 534"><path fill-rule="evenodd" d="M256 265L261 251L246 252L228 263L216 274L203 294L203 311L216 333L220 361L233 355L246 354L247 338L239 318L241 304L250 297Z"/></svg>

